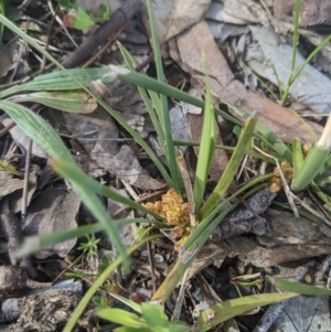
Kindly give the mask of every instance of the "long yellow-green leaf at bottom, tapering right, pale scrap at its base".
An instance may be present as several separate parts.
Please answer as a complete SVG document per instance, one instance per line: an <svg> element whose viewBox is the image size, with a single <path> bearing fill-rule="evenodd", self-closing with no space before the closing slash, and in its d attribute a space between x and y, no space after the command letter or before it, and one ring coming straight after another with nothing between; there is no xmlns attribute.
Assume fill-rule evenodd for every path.
<svg viewBox="0 0 331 332"><path fill-rule="evenodd" d="M195 324L200 326L201 332L209 331L211 328L216 326L235 315L242 314L245 311L284 301L296 296L297 293L295 292L268 293L224 301L204 310Z"/></svg>

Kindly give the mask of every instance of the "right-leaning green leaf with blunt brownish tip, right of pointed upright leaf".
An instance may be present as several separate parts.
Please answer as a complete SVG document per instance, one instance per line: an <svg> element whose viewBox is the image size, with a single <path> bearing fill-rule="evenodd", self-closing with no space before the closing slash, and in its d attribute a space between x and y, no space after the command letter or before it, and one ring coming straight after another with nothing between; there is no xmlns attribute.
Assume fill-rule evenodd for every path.
<svg viewBox="0 0 331 332"><path fill-rule="evenodd" d="M229 183L233 181L234 175L237 172L239 164L246 153L246 150L249 147L256 122L257 111L254 111L246 121L245 127L243 128L242 136L239 137L238 143L233 154L231 156L231 159L222 174L222 178L220 179L214 191L197 214L200 221L204 219L215 208L222 196L225 194Z"/></svg>

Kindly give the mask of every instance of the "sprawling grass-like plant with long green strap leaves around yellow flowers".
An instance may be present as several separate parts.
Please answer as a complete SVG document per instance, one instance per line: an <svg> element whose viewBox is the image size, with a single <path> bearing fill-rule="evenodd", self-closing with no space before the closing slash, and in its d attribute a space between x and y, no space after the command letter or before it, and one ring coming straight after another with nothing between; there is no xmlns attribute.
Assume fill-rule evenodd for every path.
<svg viewBox="0 0 331 332"><path fill-rule="evenodd" d="M52 158L53 169L65 178L75 192L79 195L84 204L90 210L95 218L98 221L97 224L81 226L77 229L72 231L62 231L56 234L42 235L36 237L29 238L28 244L24 248L21 249L21 254L28 254L35 248L42 248L46 245L52 245L54 243L67 240L74 237L86 236L92 233L105 231L109 238L111 238L114 245L118 249L119 257L113 261L96 279L95 283L89 288L89 290L84 296L81 303L75 309L72 318L67 322L64 331L72 331L75 325L75 322L78 320L79 315L83 313L84 309L90 301L92 297L95 294L97 289L105 282L109 274L111 274L120 264L124 264L126 267L129 266L128 255L135 248L138 248L140 245L148 240L160 237L161 235L151 235L148 236L148 233L151 229L157 227L168 227L167 221L164 217L160 216L158 213L150 211L142 204L136 203L130 199L119 195L118 193L111 191L109 188L99 184L97 181L87 176L82 170L75 164L70 151L64 146L60 139L57 132L39 115L35 115L26 107L20 105L20 101L26 100L23 99L22 95L19 97L19 94L24 93L29 95L29 100L44 103L51 107L63 109L61 105L50 100L50 98L41 98L41 93L47 93L46 89L54 94L58 93L58 89L62 89L61 93L66 90L76 90L75 98L72 104L72 111L75 111L78 107L82 106L82 99L84 100L84 94L87 93L95 100L97 100L111 117L114 117L118 124L120 124L137 141L138 144L147 152L149 158L154 162L154 164L160 170L163 179L167 181L169 188L173 189L178 194L183 193L182 186L182 175L177 163L177 158L179 152L177 149L178 142L172 138L170 118L169 118L169 106L168 97L186 101L197 107L204 109L204 124L202 130L202 139L200 144L200 152L197 157L197 168L195 171L195 179L193 183L193 208L196 225L191 225L191 229L185 240L182 242L182 246L179 250L179 257L175 261L173 268L169 272L168 277L163 283L159 287L154 293L152 300L153 303L163 304L173 289L177 287L180 279L183 277L185 270L190 267L193 259L199 254L202 246L207 240L209 236L213 229L222 223L226 214L233 211L238 203L234 202L236 195L243 195L244 197L252 195L259 189L268 185L267 180L273 175L271 173L264 176L258 176L245 185L243 185L235 194L226 200L222 200L225 196L225 193L228 189L231 181L234 179L235 173L237 172L239 164L245 157L245 154L253 154L256 158L266 159L265 156L253 151L250 149L250 142L253 137L261 140L274 153L275 158L280 161L287 160L290 164L295 167L295 180L292 182L292 189L299 191L306 185L313 184L313 180L323 181L320 176L322 171L331 163L329 156L329 142L328 133L323 135L319 143L316 146L316 152L319 153L320 168L316 172L316 169L312 169L312 161L316 160L316 154L313 157L307 158L305 161L301 158L300 149L298 147L298 141L295 141L292 150L287 147L267 126L258 120L258 111L248 115L243 109L228 104L226 100L222 103L227 104L232 109L237 111L241 116L246 118L246 124L243 125L235 118L223 113L221 109L214 107L211 104L211 92L209 86L207 78L207 68L205 67L206 73L206 89L205 89L205 100L197 99L190 96L189 94L169 86L164 82L164 73L162 68L161 55L159 50L159 44L157 40L157 33L153 22L153 14L151 10L150 1L147 1L148 13L151 22L151 34L152 34L152 46L156 57L157 65L157 79L148 77L146 74L135 73L134 68L136 66L135 60L130 54L120 46L122 52L126 68L119 66L108 66L104 68L92 68L92 69L65 69L57 63L49 53L41 49L31 38L29 38L24 32L19 30L14 24L8 21L3 15L0 15L0 23L11 29L14 33L24 39L31 46L35 47L44 56L46 56L51 62L56 64L61 72L55 72L51 74L44 74L31 82L28 82L20 86L14 86L7 90L0 93L0 108L3 109L20 128L31 137L49 156ZM102 78L104 82L109 82L111 79L120 79L128 84L134 84L138 87L141 98L145 101L146 108L149 113L149 116L154 126L160 146L163 149L167 165L162 164L158 159L156 153L151 148L131 129L126 121L117 115L108 105L100 100L96 95L94 95L88 88L88 84L95 79ZM61 84L58 82L61 81ZM31 92L35 92L33 94ZM72 93L71 93L72 94ZM73 95L72 95L73 96ZM83 96L83 97L82 97ZM39 98L38 98L39 97ZM233 149L231 159L226 169L223 172L222 178L218 180L214 190L210 193L209 199L204 202L204 195L206 190L207 175L211 164L211 159L214 152L215 146L215 115L221 115L223 118L233 121L238 125L242 130L238 138L237 146ZM329 127L328 127L329 128ZM330 130L325 128L325 130ZM327 132L327 131L325 131ZM181 142L183 143L183 142ZM192 142L186 142L188 144L193 144ZM325 148L328 146L328 149ZM311 152L311 153L312 153ZM308 154L309 156L309 154ZM273 159L268 159L273 162ZM309 172L313 175L308 174ZM303 180L301 179L303 178ZM328 181L328 179L324 179ZM111 221L107 215L105 207L98 200L98 195L104 195L110 200L121 202L127 204L131 208L139 210L143 213L147 213L154 217L154 221L149 221L145 218L137 219L122 219L122 221ZM327 196L328 197L328 196ZM328 197L330 200L330 197ZM192 206L191 206L192 207ZM142 234L141 239L131 246L130 248L125 248L120 242L120 238L117 234L117 225L125 223L150 223L152 226L147 228ZM201 317L197 320L197 326L202 326L200 331L207 331L209 328L216 325L217 323L239 314L244 311L250 310L258 306L264 306L279 301L286 298L292 297L292 293L286 294L263 294L257 297L243 298L238 300L233 300L225 302L223 304L217 304L213 308L210 308L202 312ZM121 299L125 301L124 299ZM104 319L109 319L116 321L122 325L122 329L119 328L117 331L189 331L181 322L169 322L167 317L163 314L161 307L157 304L146 303L146 304L130 304L131 308L138 312L140 315L124 313L122 311L115 311L115 309L103 309L98 312L98 315ZM236 304L237 303L237 304ZM118 319L118 314L121 314L121 319ZM153 318L158 318L154 320ZM125 329L125 326L127 329ZM196 326L195 326L196 328ZM161 329L161 330L160 330ZM194 328L193 328L194 329ZM197 329L197 328L196 328ZM194 330L191 330L194 331Z"/></svg>

